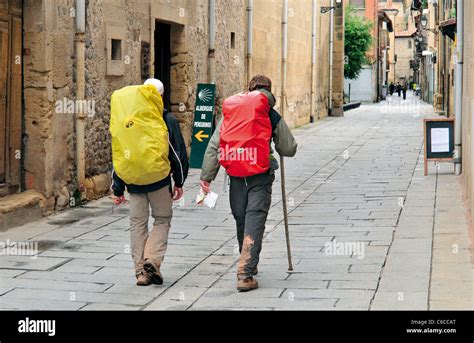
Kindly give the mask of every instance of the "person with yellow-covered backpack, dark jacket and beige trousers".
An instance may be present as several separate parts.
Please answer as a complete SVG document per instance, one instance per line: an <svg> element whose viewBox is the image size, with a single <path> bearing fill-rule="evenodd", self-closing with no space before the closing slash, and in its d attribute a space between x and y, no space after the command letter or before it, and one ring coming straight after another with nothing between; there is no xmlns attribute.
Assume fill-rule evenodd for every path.
<svg viewBox="0 0 474 343"><path fill-rule="evenodd" d="M167 248L173 200L183 196L189 164L177 120L163 108L157 79L128 86L111 98L114 201L130 194L130 238L137 285L163 284L160 267ZM172 187L172 181L174 186ZM148 218L154 219L148 231Z"/></svg>

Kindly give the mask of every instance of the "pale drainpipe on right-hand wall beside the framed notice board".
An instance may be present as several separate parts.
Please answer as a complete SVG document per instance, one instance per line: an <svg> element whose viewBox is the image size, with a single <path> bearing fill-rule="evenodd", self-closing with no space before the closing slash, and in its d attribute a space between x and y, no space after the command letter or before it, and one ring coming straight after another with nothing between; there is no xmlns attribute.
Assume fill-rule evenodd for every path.
<svg viewBox="0 0 474 343"><path fill-rule="evenodd" d="M464 1L457 0L457 37L456 37L456 86L455 86L455 121L454 121L454 149L457 156L454 160L456 175L462 172L462 96L463 96L463 54L464 54Z"/></svg>

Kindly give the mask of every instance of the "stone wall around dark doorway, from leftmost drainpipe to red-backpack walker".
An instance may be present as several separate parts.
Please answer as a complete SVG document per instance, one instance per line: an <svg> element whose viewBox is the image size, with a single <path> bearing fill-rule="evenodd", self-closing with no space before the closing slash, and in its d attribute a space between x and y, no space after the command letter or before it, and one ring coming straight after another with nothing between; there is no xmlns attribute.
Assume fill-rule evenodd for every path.
<svg viewBox="0 0 474 343"><path fill-rule="evenodd" d="M193 120L195 88L207 82L208 6L207 1L174 1L169 12L180 12L181 23L171 25L171 111L180 121L189 147ZM182 6L182 7L181 7ZM109 101L112 92L129 84L141 82L141 41L150 40L150 2L146 0L93 1L88 7L87 96L96 101L96 115L87 127L87 174L96 175L111 169ZM242 90L245 76L245 4L244 0L218 1L216 35L217 102ZM156 20L161 11L152 13ZM109 28L112 26L112 29ZM124 55L128 57L123 75L104 77L107 30L126 32ZM235 48L230 49L231 32ZM188 151L189 152L189 151Z"/></svg>

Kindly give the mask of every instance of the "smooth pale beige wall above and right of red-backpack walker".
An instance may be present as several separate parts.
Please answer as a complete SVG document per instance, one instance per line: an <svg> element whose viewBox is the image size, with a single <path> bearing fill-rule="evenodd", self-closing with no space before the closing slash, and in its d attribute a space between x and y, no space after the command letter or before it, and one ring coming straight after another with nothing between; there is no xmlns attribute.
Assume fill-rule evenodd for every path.
<svg viewBox="0 0 474 343"><path fill-rule="evenodd" d="M329 88L329 15L320 13L329 0L318 1L316 10L316 64L313 115L327 116ZM273 81L277 109L281 106L282 0L254 1L253 74ZM312 1L290 0L288 16L287 107L291 127L310 121Z"/></svg>

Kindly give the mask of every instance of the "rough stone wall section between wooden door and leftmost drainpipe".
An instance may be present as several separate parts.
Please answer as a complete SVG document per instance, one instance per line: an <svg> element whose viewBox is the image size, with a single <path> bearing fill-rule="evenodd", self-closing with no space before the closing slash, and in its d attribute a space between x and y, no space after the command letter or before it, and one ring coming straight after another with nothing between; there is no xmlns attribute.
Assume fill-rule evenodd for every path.
<svg viewBox="0 0 474 343"><path fill-rule="evenodd" d="M41 191L47 211L69 204L74 114L57 109L73 88L74 1L28 1L24 13L25 187Z"/></svg>

